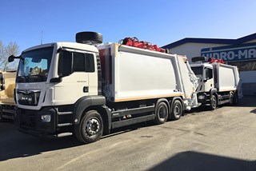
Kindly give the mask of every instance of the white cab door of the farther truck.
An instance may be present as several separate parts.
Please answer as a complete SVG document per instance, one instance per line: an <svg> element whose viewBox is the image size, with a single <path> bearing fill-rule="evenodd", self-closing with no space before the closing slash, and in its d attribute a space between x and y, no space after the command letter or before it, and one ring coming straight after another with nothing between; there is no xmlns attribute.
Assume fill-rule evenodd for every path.
<svg viewBox="0 0 256 171"><path fill-rule="evenodd" d="M210 89L214 88L214 77L213 77L213 69L205 67L203 74L203 89L204 92L210 91Z"/></svg>

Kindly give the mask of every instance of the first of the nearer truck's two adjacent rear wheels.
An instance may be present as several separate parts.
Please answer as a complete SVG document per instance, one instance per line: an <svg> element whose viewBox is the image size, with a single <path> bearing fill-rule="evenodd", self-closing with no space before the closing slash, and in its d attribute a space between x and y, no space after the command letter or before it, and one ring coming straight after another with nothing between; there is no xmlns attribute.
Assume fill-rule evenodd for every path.
<svg viewBox="0 0 256 171"><path fill-rule="evenodd" d="M163 124L167 121L169 109L165 102L158 103L155 108L155 122L157 124Z"/></svg>

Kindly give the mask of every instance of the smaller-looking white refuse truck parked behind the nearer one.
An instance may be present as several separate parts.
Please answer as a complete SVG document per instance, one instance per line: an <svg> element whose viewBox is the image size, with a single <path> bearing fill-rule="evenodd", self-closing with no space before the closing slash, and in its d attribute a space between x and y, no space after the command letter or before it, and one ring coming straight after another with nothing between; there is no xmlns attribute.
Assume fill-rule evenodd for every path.
<svg viewBox="0 0 256 171"><path fill-rule="evenodd" d="M192 58L191 69L198 77L196 93L198 103L216 109L218 105L229 103L235 105L242 97L242 82L237 66L229 66L212 58ZM198 63L197 63L198 62Z"/></svg>

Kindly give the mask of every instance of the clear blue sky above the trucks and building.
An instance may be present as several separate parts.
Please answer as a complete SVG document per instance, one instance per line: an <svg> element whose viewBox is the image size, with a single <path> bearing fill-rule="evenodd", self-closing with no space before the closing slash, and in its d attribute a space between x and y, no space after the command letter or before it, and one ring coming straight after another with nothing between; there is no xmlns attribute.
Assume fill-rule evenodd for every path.
<svg viewBox="0 0 256 171"><path fill-rule="evenodd" d="M256 33L255 0L1 0L0 40L20 52L41 43L74 42L80 31L165 46L182 38L241 38Z"/></svg>

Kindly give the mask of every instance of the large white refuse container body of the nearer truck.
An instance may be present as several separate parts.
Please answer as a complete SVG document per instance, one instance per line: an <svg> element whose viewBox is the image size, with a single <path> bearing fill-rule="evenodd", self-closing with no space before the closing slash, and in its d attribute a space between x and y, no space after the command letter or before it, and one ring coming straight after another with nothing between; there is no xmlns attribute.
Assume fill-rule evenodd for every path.
<svg viewBox="0 0 256 171"><path fill-rule="evenodd" d="M105 66L102 74L106 78L103 92L108 101L176 96L186 98L194 91L188 74L182 74L188 73L182 56L117 43L98 46L98 49L100 56L105 54L101 56L101 61L105 62L102 64Z"/></svg>

